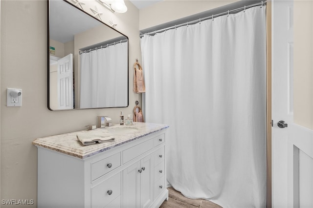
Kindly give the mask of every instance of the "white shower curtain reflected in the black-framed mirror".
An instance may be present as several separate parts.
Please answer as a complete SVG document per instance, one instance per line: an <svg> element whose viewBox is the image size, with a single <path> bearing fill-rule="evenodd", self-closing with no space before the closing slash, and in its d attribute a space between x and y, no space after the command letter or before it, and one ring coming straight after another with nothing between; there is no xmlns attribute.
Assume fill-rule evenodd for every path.
<svg viewBox="0 0 313 208"><path fill-rule="evenodd" d="M127 106L127 47L121 42L80 55L80 108Z"/></svg>

